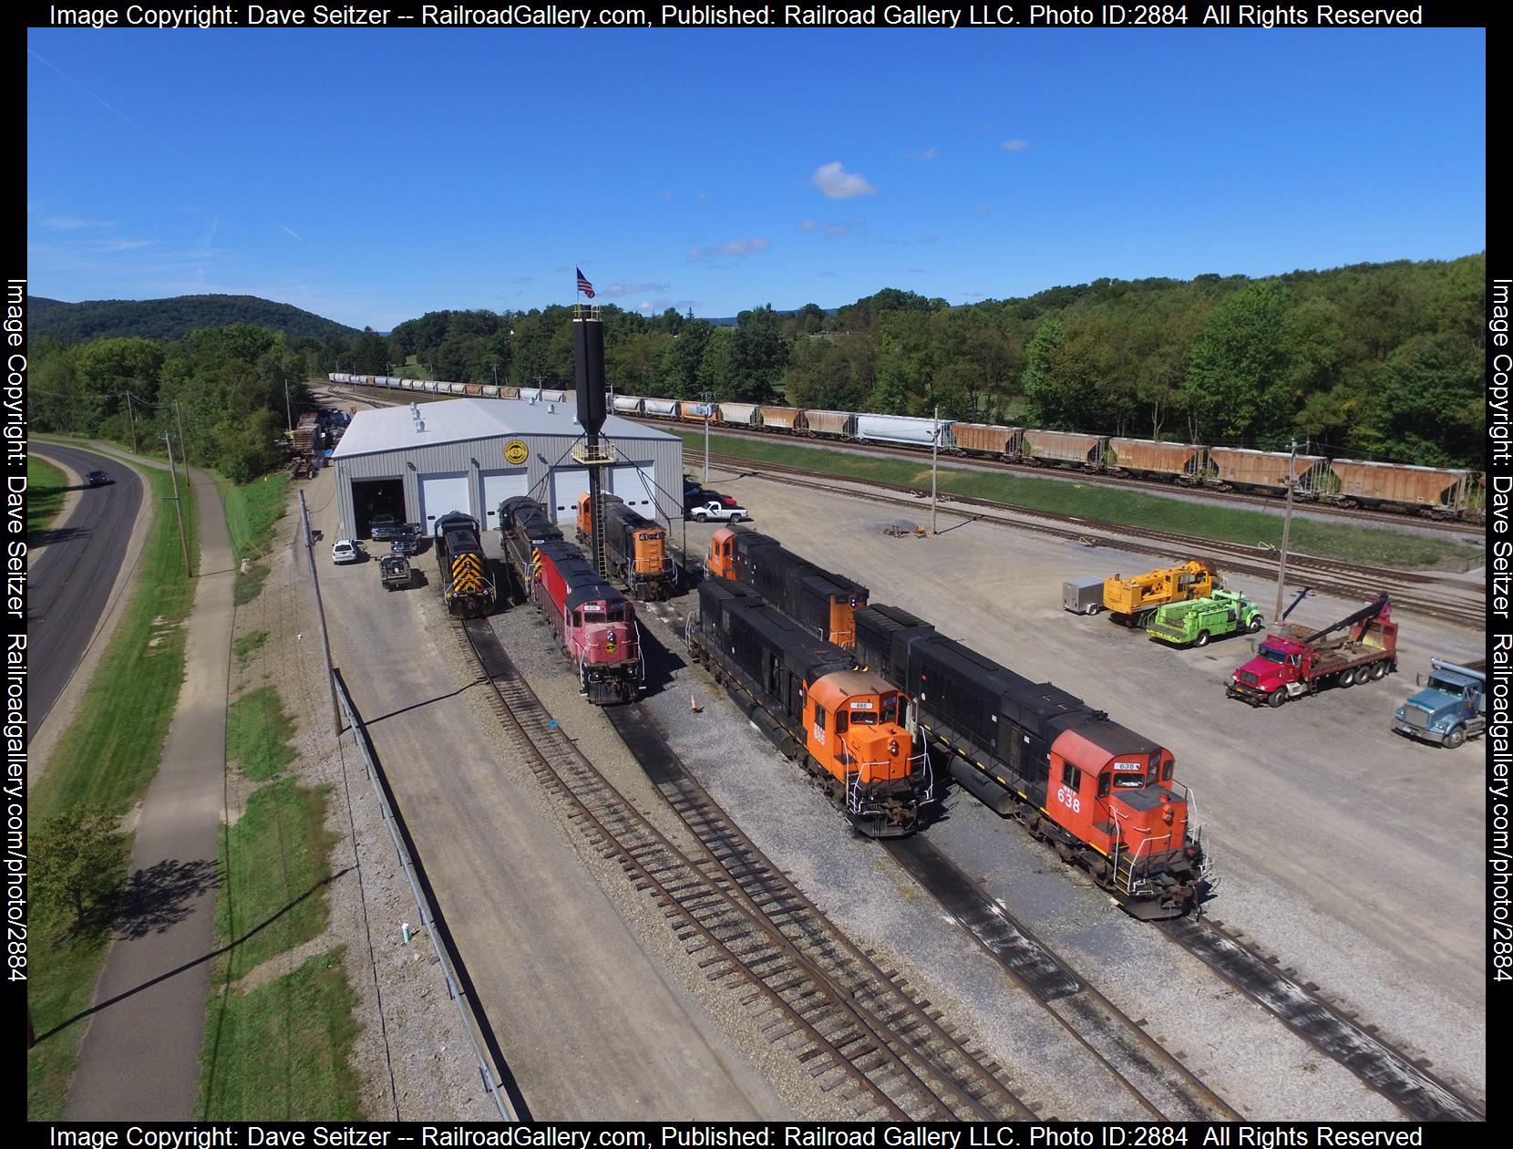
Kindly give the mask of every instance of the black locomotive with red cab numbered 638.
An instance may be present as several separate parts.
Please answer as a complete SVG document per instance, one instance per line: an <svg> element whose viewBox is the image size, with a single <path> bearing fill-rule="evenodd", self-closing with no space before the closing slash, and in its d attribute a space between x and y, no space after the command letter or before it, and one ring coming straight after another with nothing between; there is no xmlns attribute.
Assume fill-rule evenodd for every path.
<svg viewBox="0 0 1513 1149"><path fill-rule="evenodd" d="M856 659L914 698L962 789L1085 867L1127 913L1176 917L1203 896L1201 834L1170 749L896 607L856 613Z"/></svg>

